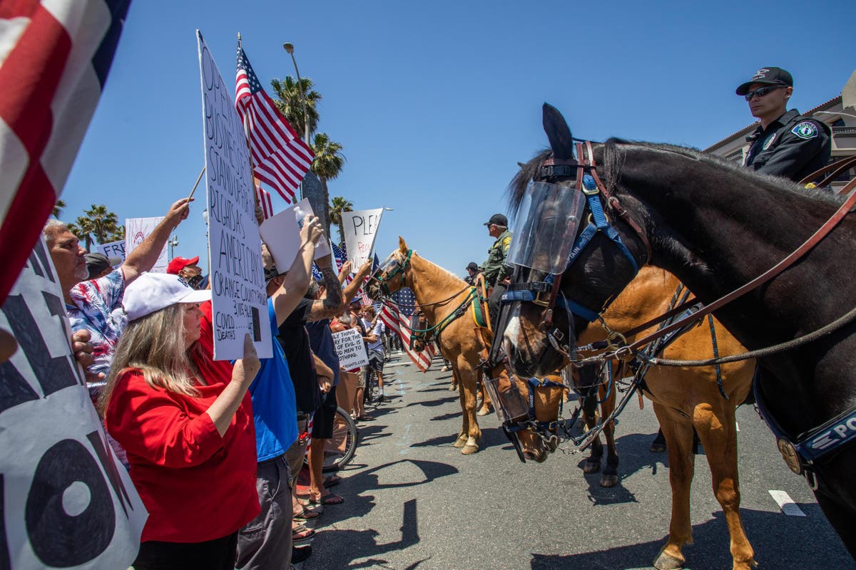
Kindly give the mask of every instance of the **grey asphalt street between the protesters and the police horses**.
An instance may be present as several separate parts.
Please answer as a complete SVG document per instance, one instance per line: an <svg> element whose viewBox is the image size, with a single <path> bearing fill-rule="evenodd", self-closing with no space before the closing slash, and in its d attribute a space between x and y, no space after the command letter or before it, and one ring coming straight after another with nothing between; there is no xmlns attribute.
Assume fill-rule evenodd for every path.
<svg viewBox="0 0 856 570"><path fill-rule="evenodd" d="M403 360L401 360L403 359ZM521 463L494 414L479 418L482 450L461 455L450 373L420 373L407 356L386 372L389 403L360 424L360 447L334 489L345 498L318 519L303 570L334 568L579 570L648 568L669 529L669 467L648 451L657 421L631 402L616 426L621 481L597 485L584 455L556 452ZM856 568L805 480L785 466L751 407L738 410L740 512L760 568ZM731 567L728 531L704 455L693 481L693 570ZM786 515L770 495L785 491L805 516Z"/></svg>

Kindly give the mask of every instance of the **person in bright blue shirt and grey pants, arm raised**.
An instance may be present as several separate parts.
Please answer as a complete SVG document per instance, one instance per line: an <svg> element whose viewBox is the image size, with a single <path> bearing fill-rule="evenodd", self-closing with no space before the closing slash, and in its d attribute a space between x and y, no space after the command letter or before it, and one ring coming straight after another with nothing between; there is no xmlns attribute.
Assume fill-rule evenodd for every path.
<svg viewBox="0 0 856 570"><path fill-rule="evenodd" d="M262 250L271 338L276 337L279 326L294 312L309 285L315 244L322 235L318 218L307 216L300 229L300 248L287 274L279 273L270 253L266 248ZM239 533L237 568L288 570L292 561L296 563L312 554L311 546L300 552L292 549L291 472L286 456L298 438L292 374L282 346L275 342L273 356L261 362L259 375L249 388L261 510Z"/></svg>

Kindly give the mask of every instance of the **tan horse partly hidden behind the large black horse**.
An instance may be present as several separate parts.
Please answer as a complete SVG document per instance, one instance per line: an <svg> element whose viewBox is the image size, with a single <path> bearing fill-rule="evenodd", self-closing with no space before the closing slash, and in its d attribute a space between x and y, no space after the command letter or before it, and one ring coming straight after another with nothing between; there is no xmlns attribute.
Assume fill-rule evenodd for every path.
<svg viewBox="0 0 856 570"><path fill-rule="evenodd" d="M669 309L678 280L671 273L657 267L643 267L639 275L627 285L615 302L603 314L610 329L627 331ZM714 320L716 343L722 355L744 352L742 345L725 328ZM647 334L651 331L639 333ZM580 345L606 338L599 326L589 326L580 334ZM627 338L632 342L632 338ZM580 353L580 357L586 356ZM704 323L669 344L664 357L678 360L712 356L710 328ZM645 396L654 403L654 412L663 429L669 452L669 484L672 488L672 515L669 539L657 556L654 566L661 569L681 567L686 560L681 552L684 544L692 543L693 527L690 522L690 484L693 481L695 454L693 428L698 432L713 481L716 500L722 505L734 568L747 570L755 564L752 545L746 538L740 520L740 485L737 476L737 426L734 412L744 402L752 388L754 361L723 364L722 388L728 399L722 397L716 384L714 367L651 367L645 375ZM615 391L613 390L613 393ZM556 393L536 399L536 414L541 420L555 420L558 412ZM602 416L603 417L603 416ZM611 426L604 426L608 439ZM609 431L608 431L609 430ZM522 441L523 438L521 438ZM533 454L544 452L539 438L526 440ZM617 463L617 455L615 456ZM588 463L586 463L588 465Z"/></svg>

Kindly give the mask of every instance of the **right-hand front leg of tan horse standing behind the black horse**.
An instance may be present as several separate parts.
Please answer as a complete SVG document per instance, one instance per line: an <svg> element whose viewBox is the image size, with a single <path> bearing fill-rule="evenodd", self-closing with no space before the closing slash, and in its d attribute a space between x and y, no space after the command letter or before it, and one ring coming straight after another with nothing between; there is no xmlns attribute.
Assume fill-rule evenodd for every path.
<svg viewBox="0 0 856 570"><path fill-rule="evenodd" d="M731 537L731 556L734 570L749 570L756 565L752 544L746 538L740 520L740 484L737 479L737 426L734 423L734 406L722 401L718 409L709 403L698 404L693 414L693 425L704 445L710 466L713 493L722 505L728 535Z"/></svg>

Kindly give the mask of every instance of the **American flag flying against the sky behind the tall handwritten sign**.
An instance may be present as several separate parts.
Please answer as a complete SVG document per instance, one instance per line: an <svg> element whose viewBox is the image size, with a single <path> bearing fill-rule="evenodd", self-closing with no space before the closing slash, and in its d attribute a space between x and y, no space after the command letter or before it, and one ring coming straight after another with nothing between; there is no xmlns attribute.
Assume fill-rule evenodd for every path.
<svg viewBox="0 0 856 570"><path fill-rule="evenodd" d="M241 42L238 42L235 108L244 124L249 124L256 176L279 192L287 203L294 202L294 191L312 166L315 155L262 89Z"/></svg>

